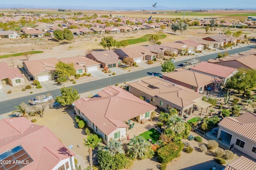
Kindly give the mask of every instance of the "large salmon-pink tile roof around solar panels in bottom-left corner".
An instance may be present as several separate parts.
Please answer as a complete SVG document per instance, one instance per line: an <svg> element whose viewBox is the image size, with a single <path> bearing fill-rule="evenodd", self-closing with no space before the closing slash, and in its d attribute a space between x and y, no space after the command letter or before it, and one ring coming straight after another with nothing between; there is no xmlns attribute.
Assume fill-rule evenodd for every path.
<svg viewBox="0 0 256 170"><path fill-rule="evenodd" d="M33 162L24 170L50 170L61 160L75 155L50 129L24 117L2 119L0 127L0 153L21 145L32 158Z"/></svg>

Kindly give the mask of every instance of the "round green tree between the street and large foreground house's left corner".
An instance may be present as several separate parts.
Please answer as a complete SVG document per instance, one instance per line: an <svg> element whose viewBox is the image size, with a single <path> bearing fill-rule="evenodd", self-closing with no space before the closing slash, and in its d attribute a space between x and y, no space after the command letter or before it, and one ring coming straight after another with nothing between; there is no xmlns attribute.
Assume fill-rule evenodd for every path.
<svg viewBox="0 0 256 170"><path fill-rule="evenodd" d="M56 97L56 102L62 106L70 105L80 98L76 89L72 87L63 87L60 89L61 96Z"/></svg>

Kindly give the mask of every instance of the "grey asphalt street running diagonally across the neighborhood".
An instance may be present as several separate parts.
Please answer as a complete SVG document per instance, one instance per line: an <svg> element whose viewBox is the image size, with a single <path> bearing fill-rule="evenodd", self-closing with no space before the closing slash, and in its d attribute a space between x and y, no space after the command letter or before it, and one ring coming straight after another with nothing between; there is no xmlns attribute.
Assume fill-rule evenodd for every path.
<svg viewBox="0 0 256 170"><path fill-rule="evenodd" d="M221 53L225 53L228 52L229 55L232 54L236 54L236 53L241 53L244 51L248 51L250 49L254 49L255 45L249 45L246 47L241 47L241 48L236 48L236 49L231 49L231 50L222 50ZM200 57L196 57L196 56L192 56L192 57L196 57L196 59L201 62L201 61L208 61L209 59L214 59L214 55L215 57L218 55L219 51L216 52L215 54L210 54L210 55L203 55ZM178 66L180 63L186 62L186 61L190 61L192 58L188 57L189 59L185 59L182 61L176 61L175 62L175 67L179 68L180 66ZM125 74L119 74L119 75L115 75L115 76L111 76L111 85L115 85L115 84L120 84L120 83L124 83L124 82L128 82L128 81L132 81L132 80L136 80L139 78L143 78L146 76L149 76L152 74L152 72L162 72L161 71L162 67L161 66L154 66L152 68L146 68L143 70L138 70L138 71L133 71L133 72L129 72L129 73L125 73ZM104 88L106 86L110 85L110 78L103 78L99 79L99 80L94 80L91 82L85 82L82 84L76 84L76 85L72 85L73 88L76 88L78 90L79 94L85 93L85 92L90 92L93 90L97 90L100 88ZM60 96L60 90L59 89L54 89L54 90L50 90L48 91L49 93L52 94L52 96L55 98L56 96ZM46 94L48 92L43 92L40 94ZM22 102L26 102L32 98L35 98L38 94L32 94L32 95L28 95L28 96L23 96L23 97L17 97L15 99L10 99L10 100L6 100L3 102L0 102L0 114L4 114L4 113L8 113L10 111L15 110L14 106L18 106L18 104L22 103Z"/></svg>

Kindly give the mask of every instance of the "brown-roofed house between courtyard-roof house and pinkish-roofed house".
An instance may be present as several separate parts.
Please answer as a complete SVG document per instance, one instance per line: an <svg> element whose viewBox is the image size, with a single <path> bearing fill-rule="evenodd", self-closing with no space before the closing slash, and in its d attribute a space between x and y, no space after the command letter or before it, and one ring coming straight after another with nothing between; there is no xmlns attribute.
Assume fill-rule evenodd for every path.
<svg viewBox="0 0 256 170"><path fill-rule="evenodd" d="M212 90L218 90L223 80L183 68L175 69L163 75L164 80L179 84L195 92L204 91L204 87L210 86Z"/></svg>

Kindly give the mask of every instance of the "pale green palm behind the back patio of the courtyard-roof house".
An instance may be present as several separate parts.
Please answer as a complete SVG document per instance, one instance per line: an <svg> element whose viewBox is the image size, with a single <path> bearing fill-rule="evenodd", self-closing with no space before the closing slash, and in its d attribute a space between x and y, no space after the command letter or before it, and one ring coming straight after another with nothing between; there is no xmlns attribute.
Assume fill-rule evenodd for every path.
<svg viewBox="0 0 256 170"><path fill-rule="evenodd" d="M173 115L167 121L167 126L175 133L182 133L185 130L184 121L178 115Z"/></svg>

